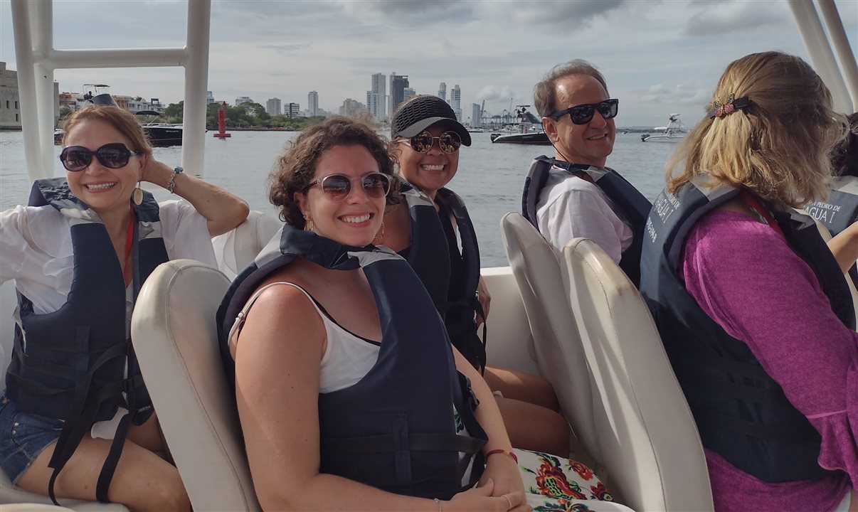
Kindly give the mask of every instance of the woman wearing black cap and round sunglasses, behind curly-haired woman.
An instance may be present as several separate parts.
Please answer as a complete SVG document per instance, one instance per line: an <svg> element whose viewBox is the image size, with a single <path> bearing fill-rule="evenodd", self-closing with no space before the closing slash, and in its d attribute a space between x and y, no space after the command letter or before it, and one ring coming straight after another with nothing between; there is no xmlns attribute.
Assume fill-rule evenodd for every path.
<svg viewBox="0 0 858 512"><path fill-rule="evenodd" d="M557 413L551 383L539 376L486 366L478 330L488 316L491 297L480 276L479 249L468 211L459 196L444 188L456 176L459 148L471 144L468 130L456 121L456 114L443 99L420 95L396 110L390 140L402 178L408 182L402 187L408 204L393 207L385 216L381 244L412 264L436 298L450 341L471 364L484 370L496 395L503 395L498 396L498 407L513 445L568 455L569 430ZM421 208L432 213L420 214Z"/></svg>

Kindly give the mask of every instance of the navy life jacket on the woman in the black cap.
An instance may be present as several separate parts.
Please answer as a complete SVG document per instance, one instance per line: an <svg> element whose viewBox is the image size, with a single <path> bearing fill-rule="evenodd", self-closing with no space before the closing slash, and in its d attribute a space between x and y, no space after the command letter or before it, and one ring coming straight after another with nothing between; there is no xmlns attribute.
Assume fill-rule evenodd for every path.
<svg viewBox="0 0 858 512"><path fill-rule="evenodd" d="M483 323L480 340L474 320L477 314L485 317L476 296L480 283L480 247L468 208L462 198L449 189L438 190L437 210L435 202L414 185L402 181L400 191L411 217L408 264L414 268L444 318L450 342L474 368L483 370L486 367L486 324ZM462 238L461 254L450 214L456 219Z"/></svg>

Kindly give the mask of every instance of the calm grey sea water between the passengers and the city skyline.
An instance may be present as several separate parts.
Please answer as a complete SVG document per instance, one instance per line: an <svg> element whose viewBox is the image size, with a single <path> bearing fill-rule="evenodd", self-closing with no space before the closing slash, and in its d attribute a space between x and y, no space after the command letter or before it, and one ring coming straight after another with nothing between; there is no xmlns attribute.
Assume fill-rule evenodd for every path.
<svg viewBox="0 0 858 512"><path fill-rule="evenodd" d="M232 138L206 138L203 177L242 197L251 209L276 215L268 202L268 176L276 158L298 132L237 131ZM473 143L462 146L459 170L448 187L465 204L480 242L482 267L505 267L500 238L500 219L507 212L521 212L524 177L531 160L540 154L553 155L551 146L492 144L489 133L471 134ZM650 201L664 187L664 164L676 148L674 142L641 142L639 134L617 134L607 166L616 169ZM59 162L60 147L54 148L54 176L65 172ZM169 166L181 165L182 148L155 148L154 156ZM21 132L0 131L0 211L26 204L30 191L24 141ZM148 187L162 201L170 194Z"/></svg>

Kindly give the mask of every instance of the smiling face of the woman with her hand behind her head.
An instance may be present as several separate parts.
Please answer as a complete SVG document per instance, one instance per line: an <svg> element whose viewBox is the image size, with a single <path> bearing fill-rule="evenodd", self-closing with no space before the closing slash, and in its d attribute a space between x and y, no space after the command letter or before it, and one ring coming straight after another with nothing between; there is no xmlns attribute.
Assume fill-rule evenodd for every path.
<svg viewBox="0 0 858 512"><path fill-rule="evenodd" d="M66 146L83 146L91 151L111 142L121 142L126 148L134 149L128 138L119 130L98 119L77 123L66 134L64 142ZM65 177L71 192L104 219L112 215L124 215L129 211L131 194L145 163L144 155L132 156L127 166L111 169L102 166L93 156L86 169L66 171Z"/></svg>

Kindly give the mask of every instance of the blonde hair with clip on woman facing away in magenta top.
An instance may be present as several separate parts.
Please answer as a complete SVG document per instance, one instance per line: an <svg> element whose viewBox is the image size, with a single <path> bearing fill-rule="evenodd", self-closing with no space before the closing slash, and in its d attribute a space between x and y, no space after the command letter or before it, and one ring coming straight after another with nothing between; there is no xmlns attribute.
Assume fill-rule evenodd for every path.
<svg viewBox="0 0 858 512"><path fill-rule="evenodd" d="M714 102L730 94L750 105L710 119ZM669 192L703 176L794 208L827 196L829 151L845 135L845 118L801 58L766 51L729 63L706 111L668 160Z"/></svg>

